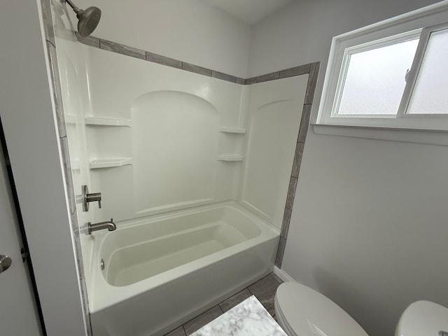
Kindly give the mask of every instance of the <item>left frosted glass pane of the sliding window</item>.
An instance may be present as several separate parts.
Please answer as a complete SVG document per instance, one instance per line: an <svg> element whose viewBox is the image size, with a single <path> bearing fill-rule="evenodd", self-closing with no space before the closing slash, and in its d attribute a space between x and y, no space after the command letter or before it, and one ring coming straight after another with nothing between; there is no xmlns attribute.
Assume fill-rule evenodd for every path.
<svg viewBox="0 0 448 336"><path fill-rule="evenodd" d="M395 115L419 39L351 55L339 115Z"/></svg>

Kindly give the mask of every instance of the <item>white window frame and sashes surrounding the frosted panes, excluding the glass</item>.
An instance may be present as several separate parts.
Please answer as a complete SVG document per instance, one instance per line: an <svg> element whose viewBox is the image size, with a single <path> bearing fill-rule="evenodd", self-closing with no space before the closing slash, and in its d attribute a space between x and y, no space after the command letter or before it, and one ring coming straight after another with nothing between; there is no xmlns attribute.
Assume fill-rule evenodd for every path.
<svg viewBox="0 0 448 336"><path fill-rule="evenodd" d="M448 27L447 15L448 1L442 1L396 18L335 36L332 39L316 125L448 131L448 115L405 113L430 33ZM396 41L400 40L407 41L415 38L417 34L420 38L419 45L402 94L398 113L377 116L337 115L337 107L342 97L342 88L348 70L348 56L354 51L371 50L375 45L384 46L397 43Z"/></svg>

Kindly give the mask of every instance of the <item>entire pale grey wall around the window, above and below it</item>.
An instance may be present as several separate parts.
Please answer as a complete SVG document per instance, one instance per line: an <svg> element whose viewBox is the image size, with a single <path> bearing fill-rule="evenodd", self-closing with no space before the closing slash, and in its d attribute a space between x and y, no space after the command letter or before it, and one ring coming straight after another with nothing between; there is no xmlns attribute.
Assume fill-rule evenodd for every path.
<svg viewBox="0 0 448 336"><path fill-rule="evenodd" d="M320 61L320 92L332 36L433 2L297 2L254 27L249 73ZM283 270L335 300L372 336L393 335L415 300L448 306L447 166L444 146L310 128Z"/></svg>

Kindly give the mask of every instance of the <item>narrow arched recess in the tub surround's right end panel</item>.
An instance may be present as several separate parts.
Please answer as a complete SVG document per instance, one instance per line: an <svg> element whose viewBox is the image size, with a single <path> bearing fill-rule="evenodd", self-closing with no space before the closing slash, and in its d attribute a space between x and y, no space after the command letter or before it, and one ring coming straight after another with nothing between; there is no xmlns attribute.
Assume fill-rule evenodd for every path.
<svg viewBox="0 0 448 336"><path fill-rule="evenodd" d="M243 200L281 224L300 109L292 100L260 106L251 118ZM274 220L275 219L275 220Z"/></svg>

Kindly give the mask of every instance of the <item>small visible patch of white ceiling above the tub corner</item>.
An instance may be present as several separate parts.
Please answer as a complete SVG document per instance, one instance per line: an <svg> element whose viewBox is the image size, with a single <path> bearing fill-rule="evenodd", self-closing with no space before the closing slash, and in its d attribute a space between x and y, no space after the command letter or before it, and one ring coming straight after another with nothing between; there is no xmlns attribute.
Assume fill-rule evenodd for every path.
<svg viewBox="0 0 448 336"><path fill-rule="evenodd" d="M253 25L269 14L286 6L294 0L204 0L232 15L233 17Z"/></svg>

